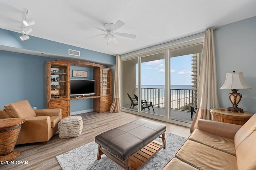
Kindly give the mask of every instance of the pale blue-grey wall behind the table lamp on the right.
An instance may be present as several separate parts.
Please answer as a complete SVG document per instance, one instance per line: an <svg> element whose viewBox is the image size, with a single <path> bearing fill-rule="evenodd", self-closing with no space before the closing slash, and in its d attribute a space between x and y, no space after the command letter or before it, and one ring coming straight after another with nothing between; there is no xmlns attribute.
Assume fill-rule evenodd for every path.
<svg viewBox="0 0 256 170"><path fill-rule="evenodd" d="M219 89L226 73L243 72L252 89L239 90L242 100L238 107L256 113L256 17L221 26L214 31L217 65L217 83L220 107L232 106L228 94Z"/></svg>

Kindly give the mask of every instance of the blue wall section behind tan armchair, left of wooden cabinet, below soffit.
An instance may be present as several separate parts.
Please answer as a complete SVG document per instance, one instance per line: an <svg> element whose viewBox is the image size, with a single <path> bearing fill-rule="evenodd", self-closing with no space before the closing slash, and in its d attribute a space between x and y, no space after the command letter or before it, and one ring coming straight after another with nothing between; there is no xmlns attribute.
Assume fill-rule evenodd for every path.
<svg viewBox="0 0 256 170"><path fill-rule="evenodd" d="M0 108L28 100L32 107L44 108L44 62L54 60L0 50Z"/></svg>

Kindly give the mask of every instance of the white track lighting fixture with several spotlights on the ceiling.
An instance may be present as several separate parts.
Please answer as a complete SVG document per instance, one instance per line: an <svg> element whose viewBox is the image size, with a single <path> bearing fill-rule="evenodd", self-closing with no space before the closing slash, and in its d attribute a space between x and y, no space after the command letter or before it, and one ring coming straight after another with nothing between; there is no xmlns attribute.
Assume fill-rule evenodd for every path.
<svg viewBox="0 0 256 170"><path fill-rule="evenodd" d="M23 26L22 26L22 35L20 36L20 39L22 41L28 40L29 36L28 34L32 32L32 28L28 27L35 24L35 21L32 19L28 19L28 9L25 10L25 17L24 20L22 20Z"/></svg>

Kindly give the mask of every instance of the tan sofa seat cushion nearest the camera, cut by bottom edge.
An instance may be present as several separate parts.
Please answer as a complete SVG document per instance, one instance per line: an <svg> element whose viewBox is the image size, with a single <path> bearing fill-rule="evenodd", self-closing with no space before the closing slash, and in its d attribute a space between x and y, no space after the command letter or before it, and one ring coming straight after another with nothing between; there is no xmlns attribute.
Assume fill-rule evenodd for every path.
<svg viewBox="0 0 256 170"><path fill-rule="evenodd" d="M186 164L185 162L182 162L178 158L172 158L168 162L168 164L164 166L162 170L198 170L198 169L194 168L189 164Z"/></svg>

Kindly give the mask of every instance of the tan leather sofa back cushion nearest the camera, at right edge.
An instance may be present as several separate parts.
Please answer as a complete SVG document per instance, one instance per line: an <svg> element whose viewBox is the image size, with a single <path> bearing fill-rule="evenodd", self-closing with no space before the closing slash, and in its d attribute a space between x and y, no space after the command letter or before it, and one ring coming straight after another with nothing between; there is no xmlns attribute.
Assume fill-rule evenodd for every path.
<svg viewBox="0 0 256 170"><path fill-rule="evenodd" d="M254 122L254 124L256 124ZM256 170L256 131L248 136L237 148L236 158L239 170Z"/></svg>

